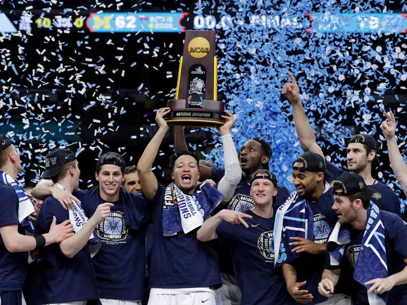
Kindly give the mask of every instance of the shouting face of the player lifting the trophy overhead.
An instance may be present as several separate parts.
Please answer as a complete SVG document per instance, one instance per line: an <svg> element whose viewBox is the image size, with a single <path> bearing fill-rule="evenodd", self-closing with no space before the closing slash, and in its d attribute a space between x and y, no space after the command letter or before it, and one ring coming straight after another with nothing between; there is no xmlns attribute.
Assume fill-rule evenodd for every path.
<svg viewBox="0 0 407 305"><path fill-rule="evenodd" d="M178 158L173 165L171 178L183 193L192 194L199 179L196 160L189 155Z"/></svg>

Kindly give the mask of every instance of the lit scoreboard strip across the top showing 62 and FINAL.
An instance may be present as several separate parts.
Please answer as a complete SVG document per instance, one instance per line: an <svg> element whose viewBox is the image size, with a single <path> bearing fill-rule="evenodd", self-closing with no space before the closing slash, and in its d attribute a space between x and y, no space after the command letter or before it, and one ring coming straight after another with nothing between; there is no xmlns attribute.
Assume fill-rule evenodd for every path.
<svg viewBox="0 0 407 305"><path fill-rule="evenodd" d="M301 19L301 20L298 20ZM224 31L233 23L249 26L296 27L305 32L347 33L407 33L405 13L307 13L292 20L277 14L251 15L237 20L232 15L188 12L81 12L65 9L59 13L43 11L0 11L0 33L57 30L61 33L83 31L90 33L182 33L186 29L216 29Z"/></svg>

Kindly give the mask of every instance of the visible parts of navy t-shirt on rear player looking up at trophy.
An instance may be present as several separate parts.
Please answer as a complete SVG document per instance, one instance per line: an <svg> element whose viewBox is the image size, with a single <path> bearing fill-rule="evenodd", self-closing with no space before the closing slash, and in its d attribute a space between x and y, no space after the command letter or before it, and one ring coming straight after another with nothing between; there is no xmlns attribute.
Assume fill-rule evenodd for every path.
<svg viewBox="0 0 407 305"><path fill-rule="evenodd" d="M225 169L219 167L212 167L211 179L219 183L225 175ZM276 202L273 202L273 207L279 207L289 197L289 191L283 185L277 183L277 196ZM235 193L228 203L228 209L245 212L254 207L253 198L250 196L250 184L245 180L240 180L236 186ZM223 245L222 240L219 241L219 268L221 272L235 276L233 268L230 249L227 245Z"/></svg>

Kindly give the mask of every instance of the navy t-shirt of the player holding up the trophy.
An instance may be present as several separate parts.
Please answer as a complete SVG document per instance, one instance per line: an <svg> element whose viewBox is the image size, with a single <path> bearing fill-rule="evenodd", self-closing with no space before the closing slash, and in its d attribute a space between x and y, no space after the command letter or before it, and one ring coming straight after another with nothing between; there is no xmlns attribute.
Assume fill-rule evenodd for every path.
<svg viewBox="0 0 407 305"><path fill-rule="evenodd" d="M201 242L196 231L165 237L162 231L162 208L165 188L158 184L150 202L153 210L153 249L151 288L198 288L220 286L215 241ZM149 204L149 203L148 203Z"/></svg>

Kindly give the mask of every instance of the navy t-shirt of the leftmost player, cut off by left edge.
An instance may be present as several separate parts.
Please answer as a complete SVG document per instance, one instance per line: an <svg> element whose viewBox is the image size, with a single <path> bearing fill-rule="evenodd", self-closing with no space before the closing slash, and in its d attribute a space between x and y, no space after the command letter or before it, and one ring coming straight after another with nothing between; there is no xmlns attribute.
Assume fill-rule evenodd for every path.
<svg viewBox="0 0 407 305"><path fill-rule="evenodd" d="M0 227L18 225L18 232L25 234L18 221L18 196L14 189L0 183ZM21 290L28 268L27 252L10 253L0 236L0 291Z"/></svg>

